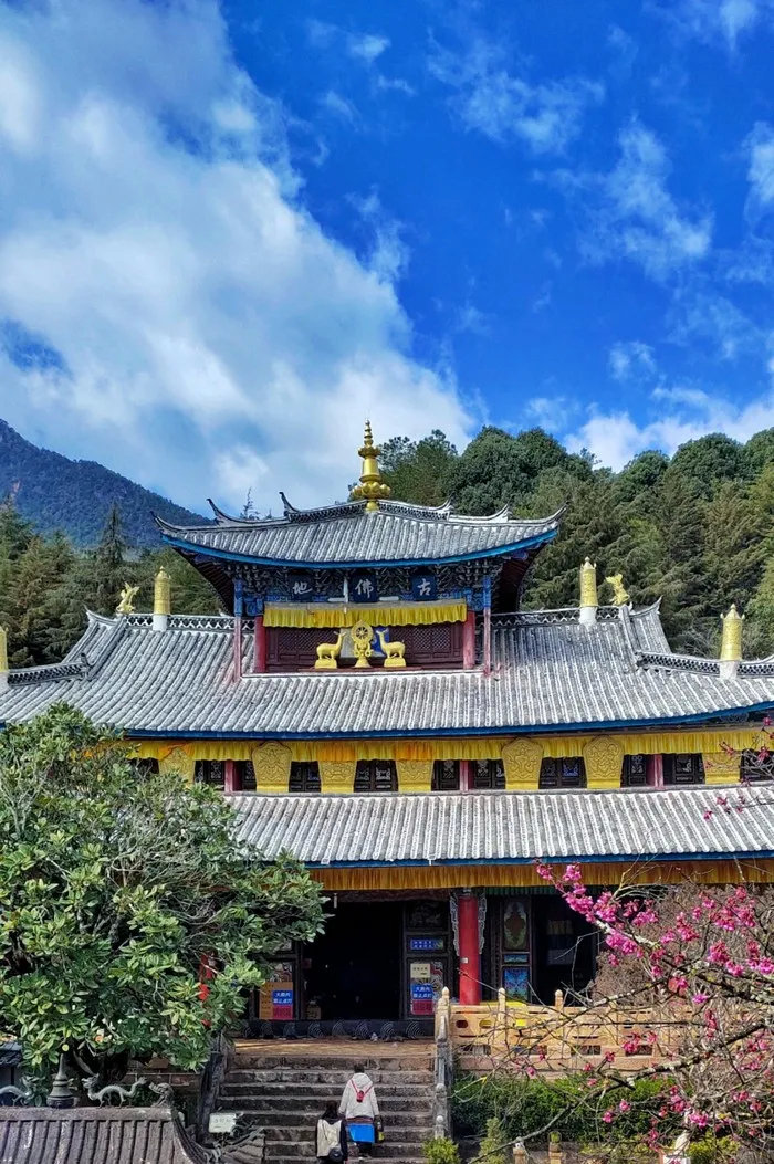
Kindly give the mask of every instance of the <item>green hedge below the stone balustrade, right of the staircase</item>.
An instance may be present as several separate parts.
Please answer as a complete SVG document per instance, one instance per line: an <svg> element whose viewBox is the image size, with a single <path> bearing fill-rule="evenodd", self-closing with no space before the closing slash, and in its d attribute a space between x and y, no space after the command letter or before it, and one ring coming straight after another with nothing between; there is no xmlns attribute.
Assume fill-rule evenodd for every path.
<svg viewBox="0 0 774 1164"><path fill-rule="evenodd" d="M582 1144L601 1140L625 1142L649 1130L656 1099L666 1086L663 1080L640 1080L633 1088L622 1087L611 1092L604 1107L599 1107L596 1101L595 1106L588 1102L585 1079L578 1076L551 1081L525 1079L516 1073L461 1076L452 1094L454 1128L460 1137L480 1137L487 1135L489 1122L496 1120L506 1141L532 1136L546 1128L538 1142L546 1143L549 1131L556 1133L562 1141ZM629 1109L624 1113L616 1110L612 1123L604 1122L604 1110L609 1107L617 1109L622 1099L627 1101ZM674 1135L679 1130L675 1127ZM665 1121L665 1137L670 1133Z"/></svg>

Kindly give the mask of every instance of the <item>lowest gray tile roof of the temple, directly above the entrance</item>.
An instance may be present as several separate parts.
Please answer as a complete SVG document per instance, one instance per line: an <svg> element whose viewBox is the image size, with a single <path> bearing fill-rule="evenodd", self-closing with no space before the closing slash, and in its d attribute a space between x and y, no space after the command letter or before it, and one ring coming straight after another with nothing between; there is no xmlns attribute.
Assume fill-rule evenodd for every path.
<svg viewBox="0 0 774 1164"><path fill-rule="evenodd" d="M230 800L244 846L331 866L761 856L774 849L774 797L746 796L727 814L709 788Z"/></svg>

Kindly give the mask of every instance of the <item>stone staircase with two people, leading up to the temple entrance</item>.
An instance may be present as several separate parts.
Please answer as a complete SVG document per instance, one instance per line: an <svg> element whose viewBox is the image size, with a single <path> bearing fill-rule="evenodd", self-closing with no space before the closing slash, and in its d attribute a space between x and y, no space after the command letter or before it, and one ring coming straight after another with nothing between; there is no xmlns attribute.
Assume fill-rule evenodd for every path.
<svg viewBox="0 0 774 1164"><path fill-rule="evenodd" d="M339 1102L352 1064L360 1058L374 1080L384 1121L385 1141L376 1148L376 1158L421 1164L421 1145L433 1135L432 1045L405 1053L400 1044L375 1049L345 1044L336 1053L331 1053L329 1045L319 1053L308 1043L301 1053L237 1049L218 1110L237 1113L241 1135L264 1133L267 1164L314 1159L317 1121L326 1103ZM349 1151L350 1159L356 1159L356 1145L350 1144ZM255 1156L250 1152L243 1158Z"/></svg>

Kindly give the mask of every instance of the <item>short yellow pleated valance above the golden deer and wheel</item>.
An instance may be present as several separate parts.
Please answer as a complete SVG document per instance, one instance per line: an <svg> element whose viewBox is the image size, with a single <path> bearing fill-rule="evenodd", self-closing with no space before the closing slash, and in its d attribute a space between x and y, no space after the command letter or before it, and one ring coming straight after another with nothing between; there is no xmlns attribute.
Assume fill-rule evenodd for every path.
<svg viewBox="0 0 774 1164"><path fill-rule="evenodd" d="M264 626L317 626L338 629L365 622L372 626L429 626L435 623L464 623L468 606L464 599L454 602L379 602L372 606L341 605L326 602L268 602L263 611Z"/></svg>

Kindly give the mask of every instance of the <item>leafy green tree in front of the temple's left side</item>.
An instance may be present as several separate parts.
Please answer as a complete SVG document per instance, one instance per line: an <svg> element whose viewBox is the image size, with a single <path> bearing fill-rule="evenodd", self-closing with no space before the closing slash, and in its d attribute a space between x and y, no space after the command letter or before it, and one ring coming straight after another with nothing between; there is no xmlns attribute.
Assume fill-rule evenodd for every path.
<svg viewBox="0 0 774 1164"><path fill-rule="evenodd" d="M65 705L0 736L0 1029L31 1071L62 1052L101 1079L154 1055L199 1067L271 959L321 930L305 870L247 860L233 824Z"/></svg>

